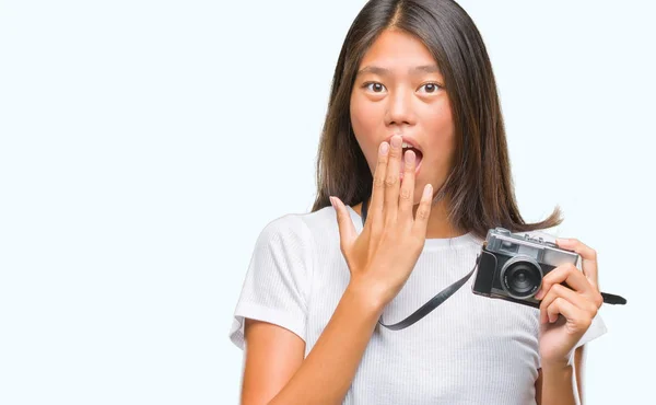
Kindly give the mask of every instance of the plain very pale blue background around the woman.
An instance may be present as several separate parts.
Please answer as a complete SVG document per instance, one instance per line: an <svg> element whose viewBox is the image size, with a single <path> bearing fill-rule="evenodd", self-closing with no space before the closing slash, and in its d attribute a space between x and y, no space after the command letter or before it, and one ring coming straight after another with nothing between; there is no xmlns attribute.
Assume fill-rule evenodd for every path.
<svg viewBox="0 0 656 405"><path fill-rule="evenodd" d="M527 220L597 248L588 404L653 396L651 1L461 1ZM235 404L255 240L309 209L362 1L0 2L0 403Z"/></svg>

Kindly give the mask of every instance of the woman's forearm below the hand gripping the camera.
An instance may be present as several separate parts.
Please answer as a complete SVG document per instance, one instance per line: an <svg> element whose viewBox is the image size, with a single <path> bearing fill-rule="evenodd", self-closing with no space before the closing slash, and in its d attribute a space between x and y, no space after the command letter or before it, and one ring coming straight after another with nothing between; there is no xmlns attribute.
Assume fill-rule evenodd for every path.
<svg viewBox="0 0 656 405"><path fill-rule="evenodd" d="M542 367L541 405L577 405L578 394L574 379L574 367Z"/></svg>

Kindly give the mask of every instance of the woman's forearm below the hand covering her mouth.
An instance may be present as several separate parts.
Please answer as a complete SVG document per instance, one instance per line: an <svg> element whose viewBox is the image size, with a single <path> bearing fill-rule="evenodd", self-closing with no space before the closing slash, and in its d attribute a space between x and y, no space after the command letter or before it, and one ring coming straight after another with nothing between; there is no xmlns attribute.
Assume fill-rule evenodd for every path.
<svg viewBox="0 0 656 405"><path fill-rule="evenodd" d="M349 286L307 358L269 404L341 404L382 308Z"/></svg>

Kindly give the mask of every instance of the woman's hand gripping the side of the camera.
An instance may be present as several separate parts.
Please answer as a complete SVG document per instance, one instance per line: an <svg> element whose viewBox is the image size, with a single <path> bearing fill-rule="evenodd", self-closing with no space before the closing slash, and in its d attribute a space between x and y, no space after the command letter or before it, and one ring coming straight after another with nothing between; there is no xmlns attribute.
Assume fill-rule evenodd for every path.
<svg viewBox="0 0 656 405"><path fill-rule="evenodd" d="M574 347L604 302L598 287L597 253L574 239L558 239L557 244L581 255L583 271L572 264L559 266L544 276L536 294L536 299L542 300L539 344L542 367L570 363Z"/></svg>

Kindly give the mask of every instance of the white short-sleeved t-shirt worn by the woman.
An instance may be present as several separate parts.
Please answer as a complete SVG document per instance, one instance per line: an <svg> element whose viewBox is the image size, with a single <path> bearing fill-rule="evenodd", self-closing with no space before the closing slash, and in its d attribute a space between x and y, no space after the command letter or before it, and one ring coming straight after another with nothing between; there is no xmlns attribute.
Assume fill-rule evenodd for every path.
<svg viewBox="0 0 656 405"><path fill-rule="evenodd" d="M361 232L360 216L349 211ZM481 244L472 234L426 240L383 322L403 320L462 278ZM377 325L343 404L535 404L539 311L475 294L475 277L406 329ZM257 240L230 338L243 349L244 319L266 321L305 340L307 356L349 278L332 207L276 219ZM597 315L578 345L605 332Z"/></svg>

